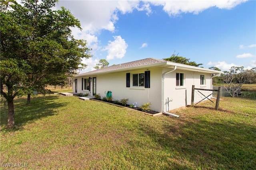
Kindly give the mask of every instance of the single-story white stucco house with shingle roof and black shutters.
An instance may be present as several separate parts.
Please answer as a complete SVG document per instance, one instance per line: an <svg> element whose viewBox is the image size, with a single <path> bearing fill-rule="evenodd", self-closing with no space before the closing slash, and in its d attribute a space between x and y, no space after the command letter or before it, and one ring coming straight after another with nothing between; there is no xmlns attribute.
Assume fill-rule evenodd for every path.
<svg viewBox="0 0 256 170"><path fill-rule="evenodd" d="M192 85L212 89L212 77L220 71L147 58L108 66L78 74L74 77L73 92L100 94L112 92L113 100L129 99L137 106L150 102L150 109L164 113L191 104Z"/></svg>

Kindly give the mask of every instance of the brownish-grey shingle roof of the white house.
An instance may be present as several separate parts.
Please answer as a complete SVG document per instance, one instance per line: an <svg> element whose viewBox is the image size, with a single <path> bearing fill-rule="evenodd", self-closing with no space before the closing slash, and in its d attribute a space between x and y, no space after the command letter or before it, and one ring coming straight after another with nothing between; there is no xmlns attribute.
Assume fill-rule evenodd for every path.
<svg viewBox="0 0 256 170"><path fill-rule="evenodd" d="M113 65L113 66L100 68L98 70L93 70L90 72L78 74L77 76L99 74L99 73L104 73L104 72L109 72L109 71L114 71L114 70L122 70L125 68L134 68L134 67L140 67L140 66L148 66L151 64L159 64L159 63L166 63L166 61L161 60L161 59L147 58L147 59L142 59L142 60L137 60L137 61L132 61L132 62L128 62L128 63L117 64L117 65Z"/></svg>

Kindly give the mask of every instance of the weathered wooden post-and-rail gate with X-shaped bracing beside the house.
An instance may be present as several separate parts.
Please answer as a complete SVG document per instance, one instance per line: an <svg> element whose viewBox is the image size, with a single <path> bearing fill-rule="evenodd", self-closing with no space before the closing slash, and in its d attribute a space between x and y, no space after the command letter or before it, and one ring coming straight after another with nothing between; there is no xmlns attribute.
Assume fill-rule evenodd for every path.
<svg viewBox="0 0 256 170"><path fill-rule="evenodd" d="M204 99L208 99L210 100L208 97L211 96L212 94L205 96L204 94L202 94L201 92L199 92L200 94L202 94L205 98L203 98L202 100L200 100L199 102L197 102L196 104L194 104L194 96L195 96L195 90L206 90L206 91L212 91L212 92L218 92L217 93L217 99L216 99L216 105L215 105L215 109L218 110L219 109L219 104L220 104L220 89L221 87L218 87L218 90L214 90L214 89L204 89L204 88L195 88L195 85L192 85L192 95L191 95L191 106L193 107L194 105L202 102ZM212 102L212 100L210 100ZM214 102L212 102L214 103Z"/></svg>

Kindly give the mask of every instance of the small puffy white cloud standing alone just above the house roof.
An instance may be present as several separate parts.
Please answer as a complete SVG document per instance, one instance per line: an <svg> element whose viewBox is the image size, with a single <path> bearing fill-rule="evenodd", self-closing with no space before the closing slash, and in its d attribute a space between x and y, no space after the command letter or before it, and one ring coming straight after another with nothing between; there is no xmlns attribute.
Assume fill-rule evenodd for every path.
<svg viewBox="0 0 256 170"><path fill-rule="evenodd" d="M108 51L107 60L112 60L114 58L122 59L128 47L128 45L120 35L113 37L115 40L108 41L108 45L103 49Z"/></svg>

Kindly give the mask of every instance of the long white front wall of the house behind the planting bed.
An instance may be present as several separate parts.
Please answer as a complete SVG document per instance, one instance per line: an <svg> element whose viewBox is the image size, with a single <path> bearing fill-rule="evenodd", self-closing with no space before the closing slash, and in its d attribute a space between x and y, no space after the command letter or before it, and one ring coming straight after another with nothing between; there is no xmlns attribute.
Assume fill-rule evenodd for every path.
<svg viewBox="0 0 256 170"><path fill-rule="evenodd" d="M96 94L100 94L101 97L106 96L106 93L111 91L113 100L129 99L127 104L137 102L137 107L150 102L150 109L160 112L162 101L162 68L148 69L148 71L150 71L150 88L132 86L132 74L144 73L145 71L147 71L147 69L90 75L90 77L96 77ZM126 87L126 73L130 73L130 87ZM92 82L91 92L82 90L82 78L88 77L89 76L77 77L77 92L83 94L89 93L89 95L92 96ZM73 92L75 91L74 89L73 87Z"/></svg>

